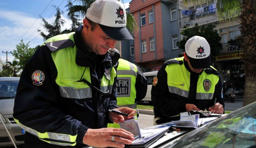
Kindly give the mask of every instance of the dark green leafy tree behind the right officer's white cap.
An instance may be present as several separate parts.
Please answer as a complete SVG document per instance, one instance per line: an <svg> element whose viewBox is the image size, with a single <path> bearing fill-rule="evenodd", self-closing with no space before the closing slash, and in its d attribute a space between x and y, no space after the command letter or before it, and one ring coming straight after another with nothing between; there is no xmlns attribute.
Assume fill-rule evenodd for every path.
<svg viewBox="0 0 256 148"><path fill-rule="evenodd" d="M183 49L183 51L185 51L185 44L188 39L195 35L204 37L211 46L211 58L212 62L214 62L215 58L213 58L213 56L219 54L220 50L222 49L222 45L220 43L221 38L217 30L214 30L214 27L216 26L212 24L209 24L207 26L198 26L196 24L195 27L186 28L180 33L184 36L184 38L180 42L178 42L177 45L180 49Z"/></svg>

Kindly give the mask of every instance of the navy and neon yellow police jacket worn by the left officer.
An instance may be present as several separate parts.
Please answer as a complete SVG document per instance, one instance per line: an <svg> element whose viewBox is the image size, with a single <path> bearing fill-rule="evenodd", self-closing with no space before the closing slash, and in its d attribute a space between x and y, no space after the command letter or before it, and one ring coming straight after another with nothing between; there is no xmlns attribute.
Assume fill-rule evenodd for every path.
<svg viewBox="0 0 256 148"><path fill-rule="evenodd" d="M117 107L113 89L116 70L111 63L114 55L104 55L105 59L102 59L103 64L100 65L99 71L105 70L106 74L99 74L100 78L97 78L96 71L91 66L93 61L89 57L89 51L75 45L79 37L81 38L79 32L73 32L46 40L23 70L13 117L19 126L27 131L26 134L30 133L40 139L29 141L25 134L30 146L44 141L51 147L84 147L81 137L88 128L103 128L110 123L107 110ZM79 55L79 52L84 53ZM88 66L79 66L77 61ZM40 85L32 84L35 70L44 75ZM109 89L109 93L101 95L86 83L77 82L82 75L82 78L103 92ZM45 147L47 143L40 147Z"/></svg>

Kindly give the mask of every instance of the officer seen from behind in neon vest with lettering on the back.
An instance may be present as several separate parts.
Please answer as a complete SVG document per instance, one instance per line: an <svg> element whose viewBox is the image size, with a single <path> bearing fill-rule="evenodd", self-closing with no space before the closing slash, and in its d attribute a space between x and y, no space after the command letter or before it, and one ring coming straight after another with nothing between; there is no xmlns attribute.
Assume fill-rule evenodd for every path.
<svg viewBox="0 0 256 148"><path fill-rule="evenodd" d="M113 49L110 49L113 51ZM143 75L140 67L120 58L117 63L117 105L137 110L137 101L142 100L147 93L148 80ZM120 128L117 123L108 123L108 127Z"/></svg>

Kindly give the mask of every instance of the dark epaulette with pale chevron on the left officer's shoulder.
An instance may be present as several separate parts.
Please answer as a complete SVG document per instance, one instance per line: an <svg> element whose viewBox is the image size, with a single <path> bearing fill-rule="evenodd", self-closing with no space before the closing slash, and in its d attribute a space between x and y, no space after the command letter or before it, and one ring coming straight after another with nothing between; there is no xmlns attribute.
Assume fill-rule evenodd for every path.
<svg viewBox="0 0 256 148"><path fill-rule="evenodd" d="M44 43L51 51L57 51L67 47L75 46L74 42L71 39L64 39L59 41L53 41Z"/></svg>

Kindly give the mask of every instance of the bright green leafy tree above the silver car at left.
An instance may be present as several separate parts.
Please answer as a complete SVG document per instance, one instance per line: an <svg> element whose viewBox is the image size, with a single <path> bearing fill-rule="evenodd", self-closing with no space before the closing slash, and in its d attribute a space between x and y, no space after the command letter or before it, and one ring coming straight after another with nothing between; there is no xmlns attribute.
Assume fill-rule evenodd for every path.
<svg viewBox="0 0 256 148"><path fill-rule="evenodd" d="M21 69L24 69L28 60L36 52L36 49L37 48L30 48L29 42L25 44L23 39L21 39L20 43L16 45L16 49L14 49L11 53L15 59L19 60L18 66Z"/></svg>

